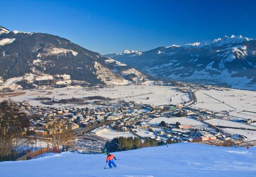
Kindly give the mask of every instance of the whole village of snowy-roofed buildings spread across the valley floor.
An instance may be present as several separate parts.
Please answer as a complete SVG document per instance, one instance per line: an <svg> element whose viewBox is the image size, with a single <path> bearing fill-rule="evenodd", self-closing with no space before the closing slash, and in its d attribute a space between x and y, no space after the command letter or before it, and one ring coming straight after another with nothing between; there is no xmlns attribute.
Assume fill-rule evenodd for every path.
<svg viewBox="0 0 256 177"><path fill-rule="evenodd" d="M246 139L243 135L229 134L223 127L209 122L225 119L228 113L194 108L191 104L193 102L189 106L154 106L130 101L117 106L102 106L101 103L101 107L96 108L57 108L31 106L20 102L19 107L31 117L30 127L24 129L23 136L40 138L51 135L54 131L56 133L70 130L76 135L76 146L73 150L79 153L100 153L105 142L117 137L138 137L142 141L155 139L164 143L171 140L173 143L206 144L222 141L242 142ZM246 119L243 121L244 124L255 122Z"/></svg>

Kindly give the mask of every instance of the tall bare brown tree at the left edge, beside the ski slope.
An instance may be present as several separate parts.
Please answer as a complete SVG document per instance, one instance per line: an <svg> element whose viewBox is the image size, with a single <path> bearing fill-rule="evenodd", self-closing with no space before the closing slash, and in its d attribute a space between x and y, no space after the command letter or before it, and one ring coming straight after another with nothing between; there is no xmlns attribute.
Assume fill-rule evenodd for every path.
<svg viewBox="0 0 256 177"><path fill-rule="evenodd" d="M21 132L26 126L28 121L17 103L11 100L0 103L0 161L16 159Z"/></svg>

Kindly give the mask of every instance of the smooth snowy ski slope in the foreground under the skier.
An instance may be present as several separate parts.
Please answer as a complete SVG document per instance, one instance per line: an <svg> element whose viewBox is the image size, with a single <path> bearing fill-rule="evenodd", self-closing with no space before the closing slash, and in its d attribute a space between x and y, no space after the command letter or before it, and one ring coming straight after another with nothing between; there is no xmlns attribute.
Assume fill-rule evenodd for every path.
<svg viewBox="0 0 256 177"><path fill-rule="evenodd" d="M105 154L64 152L27 161L0 162L0 176L256 176L256 147L192 143L112 153L117 167L104 169Z"/></svg>

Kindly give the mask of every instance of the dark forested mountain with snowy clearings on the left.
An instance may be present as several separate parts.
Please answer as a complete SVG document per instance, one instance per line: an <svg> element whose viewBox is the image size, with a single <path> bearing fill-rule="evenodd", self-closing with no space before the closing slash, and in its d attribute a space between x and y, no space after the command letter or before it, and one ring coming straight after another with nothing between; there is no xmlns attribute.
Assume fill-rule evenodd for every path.
<svg viewBox="0 0 256 177"><path fill-rule="evenodd" d="M136 69L59 36L0 26L0 90L65 85L124 85L147 78Z"/></svg>

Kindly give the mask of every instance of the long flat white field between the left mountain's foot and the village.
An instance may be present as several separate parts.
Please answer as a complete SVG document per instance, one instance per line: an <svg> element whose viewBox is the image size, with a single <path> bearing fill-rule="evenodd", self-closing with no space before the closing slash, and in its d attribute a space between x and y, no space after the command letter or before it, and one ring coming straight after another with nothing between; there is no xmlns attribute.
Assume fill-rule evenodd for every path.
<svg viewBox="0 0 256 177"><path fill-rule="evenodd" d="M21 92L21 91L18 91ZM103 96L114 99L121 99L126 101L135 101L137 103L153 104L153 105L164 105L173 104L178 105L184 101L189 101L189 95L175 91L175 87L170 86L152 86L152 85L125 85L125 86L114 86L113 88L104 88L91 90L86 87L80 86L68 86L59 89L52 90L26 90L23 95L13 96L15 92L10 96L2 96L0 94L0 101L11 98L14 101L26 100L31 105L41 105L40 101L33 100L34 98L40 97L51 97L55 99L68 99L68 98L83 98L88 96ZM146 98L149 97L147 100ZM172 98L172 102L170 102ZM54 105L55 107L88 107L87 105Z"/></svg>

